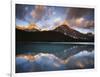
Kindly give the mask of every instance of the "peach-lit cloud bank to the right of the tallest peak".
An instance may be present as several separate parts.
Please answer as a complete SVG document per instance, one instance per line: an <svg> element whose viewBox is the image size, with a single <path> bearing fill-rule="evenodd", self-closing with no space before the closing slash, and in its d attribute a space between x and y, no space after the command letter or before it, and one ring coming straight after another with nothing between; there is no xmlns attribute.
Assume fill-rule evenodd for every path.
<svg viewBox="0 0 100 77"><path fill-rule="evenodd" d="M84 17L69 19L68 23L70 27L78 27L84 29L94 28L94 20L87 20Z"/></svg>

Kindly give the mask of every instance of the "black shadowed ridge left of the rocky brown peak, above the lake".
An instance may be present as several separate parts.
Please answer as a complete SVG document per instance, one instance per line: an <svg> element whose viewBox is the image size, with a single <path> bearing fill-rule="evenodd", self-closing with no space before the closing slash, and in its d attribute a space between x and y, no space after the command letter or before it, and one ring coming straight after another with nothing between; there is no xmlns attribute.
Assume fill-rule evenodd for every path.
<svg viewBox="0 0 100 77"><path fill-rule="evenodd" d="M16 41L32 41L32 42L57 42L66 41L63 33L55 31L23 31L16 29Z"/></svg>

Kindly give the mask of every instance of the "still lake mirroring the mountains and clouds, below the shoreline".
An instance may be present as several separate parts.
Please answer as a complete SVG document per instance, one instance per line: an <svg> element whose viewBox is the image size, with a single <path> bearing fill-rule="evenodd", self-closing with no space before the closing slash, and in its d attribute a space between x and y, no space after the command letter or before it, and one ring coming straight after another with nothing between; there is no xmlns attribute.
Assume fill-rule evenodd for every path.
<svg viewBox="0 0 100 77"><path fill-rule="evenodd" d="M16 73L90 68L93 44L16 43Z"/></svg>

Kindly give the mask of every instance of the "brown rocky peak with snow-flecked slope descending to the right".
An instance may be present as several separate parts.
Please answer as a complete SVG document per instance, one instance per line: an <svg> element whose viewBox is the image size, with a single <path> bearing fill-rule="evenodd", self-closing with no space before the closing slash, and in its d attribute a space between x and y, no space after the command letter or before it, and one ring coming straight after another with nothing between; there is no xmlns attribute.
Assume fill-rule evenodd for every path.
<svg viewBox="0 0 100 77"><path fill-rule="evenodd" d="M55 29L57 32L63 33L65 36L69 36L76 41L83 40L83 41L93 41L94 35L92 33L83 34L80 33L72 28L70 28L68 25L61 25Z"/></svg>

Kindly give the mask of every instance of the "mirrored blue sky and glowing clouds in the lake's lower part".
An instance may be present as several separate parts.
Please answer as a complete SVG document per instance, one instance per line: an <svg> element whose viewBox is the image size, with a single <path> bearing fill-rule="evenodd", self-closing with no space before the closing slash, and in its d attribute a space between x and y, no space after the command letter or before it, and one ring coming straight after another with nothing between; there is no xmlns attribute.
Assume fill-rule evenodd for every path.
<svg viewBox="0 0 100 77"><path fill-rule="evenodd" d="M16 57L16 72L93 68L93 54L93 52L82 51L64 60L54 54L48 53L39 53L35 56L31 55L31 57L34 57L33 59L29 55L20 55Z"/></svg>

